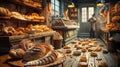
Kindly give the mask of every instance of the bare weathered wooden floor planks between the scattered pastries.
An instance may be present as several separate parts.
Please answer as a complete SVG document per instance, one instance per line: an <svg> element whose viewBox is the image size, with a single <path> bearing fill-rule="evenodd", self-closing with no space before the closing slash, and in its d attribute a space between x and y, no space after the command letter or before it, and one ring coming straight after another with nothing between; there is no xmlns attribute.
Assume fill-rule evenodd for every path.
<svg viewBox="0 0 120 67"><path fill-rule="evenodd" d="M86 38L84 38L84 39L86 39ZM100 47L102 47L102 50L106 49L106 46L102 42L102 40L100 40L100 39L96 39L96 40L97 40L97 46L100 46L102 44L103 46L100 46ZM76 39L74 41L78 41L78 39ZM70 53L70 54L65 53L66 49L63 49L63 48L58 49L59 51L64 52L67 57L66 61L63 63L64 67L78 67L78 63L80 62L79 60L82 55L86 55L88 67L98 67L98 63L100 63L100 62L105 62L108 65L108 67L119 67L118 63L117 63L117 55L115 55L115 54L111 54L110 52L108 52L107 54L104 54L101 50L101 51L96 52L97 57L91 57L90 52L88 52L88 51L85 53L81 52L80 56L73 56L73 52L76 50L74 47L74 44L69 43L67 45L70 45L72 47L72 48L70 48L72 50L72 53ZM81 45L81 44L79 44L79 45ZM97 47L97 46L95 46L95 47ZM81 49L79 49L79 51L81 51ZM96 58L102 58L102 60L97 61ZM59 65L58 67L61 67L61 65Z"/></svg>

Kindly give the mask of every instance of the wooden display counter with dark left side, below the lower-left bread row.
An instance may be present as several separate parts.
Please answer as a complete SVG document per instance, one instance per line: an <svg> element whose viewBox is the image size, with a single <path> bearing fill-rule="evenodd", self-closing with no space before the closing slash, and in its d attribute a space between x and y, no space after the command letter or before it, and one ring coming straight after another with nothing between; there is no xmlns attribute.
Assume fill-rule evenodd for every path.
<svg viewBox="0 0 120 67"><path fill-rule="evenodd" d="M49 31L49 32L42 32L42 33L36 33L36 34L26 34L26 35L19 35L19 36L0 36L0 52L8 52L10 47L14 45L18 45L18 43L22 39L31 39L37 43L37 41L42 40L43 42L46 41L47 37L50 37L52 44L52 37L55 31Z"/></svg>

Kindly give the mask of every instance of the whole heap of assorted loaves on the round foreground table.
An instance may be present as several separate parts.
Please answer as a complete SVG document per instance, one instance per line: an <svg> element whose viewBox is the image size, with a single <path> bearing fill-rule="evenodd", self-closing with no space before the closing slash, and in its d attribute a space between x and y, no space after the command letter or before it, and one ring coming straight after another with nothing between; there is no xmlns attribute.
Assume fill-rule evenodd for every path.
<svg viewBox="0 0 120 67"><path fill-rule="evenodd" d="M11 48L9 55L12 58L22 58L25 66L41 66L57 60L57 52L48 43L36 45L31 40L23 39L19 46Z"/></svg>

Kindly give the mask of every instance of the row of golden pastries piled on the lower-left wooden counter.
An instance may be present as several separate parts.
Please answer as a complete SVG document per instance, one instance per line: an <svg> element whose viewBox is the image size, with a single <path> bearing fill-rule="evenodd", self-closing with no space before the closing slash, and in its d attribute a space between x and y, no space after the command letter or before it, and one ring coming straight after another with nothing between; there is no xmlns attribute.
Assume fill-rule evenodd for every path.
<svg viewBox="0 0 120 67"><path fill-rule="evenodd" d="M14 36L14 35L25 35L34 34L40 32L50 32L52 29L48 28L46 25L28 25L27 27L17 27L7 26L2 28L2 36Z"/></svg>

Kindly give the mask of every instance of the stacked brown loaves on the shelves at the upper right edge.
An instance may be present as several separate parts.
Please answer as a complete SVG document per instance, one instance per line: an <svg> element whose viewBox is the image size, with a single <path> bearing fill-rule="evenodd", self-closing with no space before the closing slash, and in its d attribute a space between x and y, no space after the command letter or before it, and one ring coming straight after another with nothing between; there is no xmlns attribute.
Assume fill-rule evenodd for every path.
<svg viewBox="0 0 120 67"><path fill-rule="evenodd" d="M120 1L111 6L110 8L110 23L106 24L106 29L109 31L120 31Z"/></svg>

